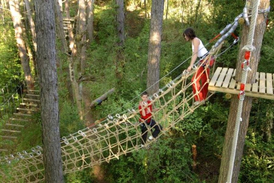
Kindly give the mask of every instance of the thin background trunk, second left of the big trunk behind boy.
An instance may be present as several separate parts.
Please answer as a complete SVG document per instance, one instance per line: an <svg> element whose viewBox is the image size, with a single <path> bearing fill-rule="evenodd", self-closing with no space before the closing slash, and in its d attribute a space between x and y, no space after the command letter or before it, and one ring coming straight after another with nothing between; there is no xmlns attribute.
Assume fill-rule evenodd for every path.
<svg viewBox="0 0 274 183"><path fill-rule="evenodd" d="M93 41L93 7L95 0L87 0L87 37L89 43Z"/></svg>

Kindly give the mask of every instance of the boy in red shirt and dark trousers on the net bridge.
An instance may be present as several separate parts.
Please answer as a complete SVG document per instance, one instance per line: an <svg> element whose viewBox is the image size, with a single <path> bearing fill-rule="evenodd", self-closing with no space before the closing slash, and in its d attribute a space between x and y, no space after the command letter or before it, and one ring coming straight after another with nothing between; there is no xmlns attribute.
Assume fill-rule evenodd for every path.
<svg viewBox="0 0 274 183"><path fill-rule="evenodd" d="M142 101L139 102L141 119L139 121L142 122L141 123L141 130L142 130L141 147L144 147L146 143L146 137L147 137L146 124L155 129L152 133L152 136L149 136L149 141L153 140L153 138L156 138L159 135L160 131L162 130L162 126L160 124L156 124L156 122L151 118L151 112L158 111L159 109L152 109L152 103L150 100L148 100L148 93L146 91L141 94L141 99ZM147 105L144 106L143 102L147 102Z"/></svg>

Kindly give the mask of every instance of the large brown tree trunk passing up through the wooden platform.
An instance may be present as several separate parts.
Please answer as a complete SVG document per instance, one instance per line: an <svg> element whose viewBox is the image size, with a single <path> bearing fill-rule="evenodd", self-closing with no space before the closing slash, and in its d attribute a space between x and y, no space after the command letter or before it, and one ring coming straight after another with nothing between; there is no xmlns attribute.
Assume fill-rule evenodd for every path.
<svg viewBox="0 0 274 183"><path fill-rule="evenodd" d="M269 0L261 0L259 9L266 9L269 7ZM247 77L247 83L254 83L255 82L255 74L257 72L258 63L260 60L260 51L262 46L262 38L265 31L266 22L263 13L259 13L257 20L256 20L256 27L255 27L255 33L254 33L254 41L253 46L255 46L256 50L255 52L251 53L251 60L249 63L251 71L248 72ZM241 79L241 63L244 60L244 51L241 49L246 44L248 39L248 31L249 27L245 26L243 27L242 33L241 33L241 45L239 49L239 55L238 55L238 62L236 65L236 81L240 81ZM234 169L232 174L231 182L236 183L238 181L238 175L240 171L240 165L241 165L241 158L243 154L244 149L244 141L245 141L245 135L248 128L248 119L249 119L249 113L251 110L252 105L252 97L245 97L243 102L243 110L242 110L242 121L240 123L239 128L239 136L237 141L237 148L236 148L236 154L235 154L235 161L234 161ZM237 116L237 106L238 106L238 98L237 95L233 95L231 98L230 103L230 113L228 117L227 122L227 131L225 135L225 141L223 145L223 154L222 154L222 162L220 167L220 175L219 175L219 183L223 183L227 181L227 174L229 169L229 161L230 161L230 154L231 154L231 146L233 141L233 134L234 134L234 127L235 127L235 121Z"/></svg>

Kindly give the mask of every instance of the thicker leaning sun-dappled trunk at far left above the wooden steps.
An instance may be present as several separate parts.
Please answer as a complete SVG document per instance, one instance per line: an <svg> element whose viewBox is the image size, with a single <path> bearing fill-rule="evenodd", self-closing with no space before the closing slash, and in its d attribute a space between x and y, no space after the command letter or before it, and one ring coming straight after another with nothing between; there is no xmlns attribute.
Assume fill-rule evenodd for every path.
<svg viewBox="0 0 274 183"><path fill-rule="evenodd" d="M21 64L24 70L27 87L28 89L33 89L33 78L30 70L29 57L27 56L25 41L23 39L21 14L19 13L19 10L16 9L16 3L19 3L19 2L14 0L9 0L9 8L12 16L12 21L13 21L13 26L15 31L15 38L17 41L17 47L18 47L19 56L21 59Z"/></svg>

